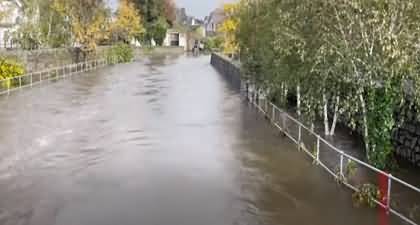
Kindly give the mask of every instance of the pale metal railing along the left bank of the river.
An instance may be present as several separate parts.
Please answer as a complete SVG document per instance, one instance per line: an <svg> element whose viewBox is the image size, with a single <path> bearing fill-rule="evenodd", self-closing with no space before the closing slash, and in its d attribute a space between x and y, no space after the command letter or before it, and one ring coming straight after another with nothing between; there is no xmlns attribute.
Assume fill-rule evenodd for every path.
<svg viewBox="0 0 420 225"><path fill-rule="evenodd" d="M21 88L32 87L44 81L57 80L74 74L96 70L114 63L115 60L97 59L2 79L0 80L0 95L9 95L11 92Z"/></svg>

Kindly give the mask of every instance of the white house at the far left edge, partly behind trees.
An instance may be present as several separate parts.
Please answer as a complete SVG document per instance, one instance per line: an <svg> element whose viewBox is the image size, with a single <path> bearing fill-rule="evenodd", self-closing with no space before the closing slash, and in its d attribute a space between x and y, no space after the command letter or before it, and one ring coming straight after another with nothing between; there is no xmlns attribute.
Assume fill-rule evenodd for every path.
<svg viewBox="0 0 420 225"><path fill-rule="evenodd" d="M12 48L11 34L18 29L23 18L23 4L20 0L0 1L0 11L6 13L0 20L0 48Z"/></svg>

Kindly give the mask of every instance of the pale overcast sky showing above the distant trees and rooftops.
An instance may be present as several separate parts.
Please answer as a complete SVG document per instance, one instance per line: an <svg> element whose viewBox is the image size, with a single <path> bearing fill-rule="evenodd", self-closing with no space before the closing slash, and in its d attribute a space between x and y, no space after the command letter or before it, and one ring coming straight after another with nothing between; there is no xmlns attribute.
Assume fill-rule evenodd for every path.
<svg viewBox="0 0 420 225"><path fill-rule="evenodd" d="M190 16L203 19L213 9L222 6L224 2L233 2L235 0L174 0L178 8L186 8ZM108 0L110 5L116 7L118 0Z"/></svg>

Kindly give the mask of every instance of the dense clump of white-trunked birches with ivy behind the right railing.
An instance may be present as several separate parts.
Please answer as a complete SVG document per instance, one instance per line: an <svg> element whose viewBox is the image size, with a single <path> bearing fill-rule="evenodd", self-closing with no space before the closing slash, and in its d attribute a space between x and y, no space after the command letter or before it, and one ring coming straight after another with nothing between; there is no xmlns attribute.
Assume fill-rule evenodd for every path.
<svg viewBox="0 0 420 225"><path fill-rule="evenodd" d="M238 7L246 76L281 103L295 89L301 119L322 117L326 135L340 120L363 134L369 162L389 165L394 112L407 102L420 107L420 2L242 0Z"/></svg>

